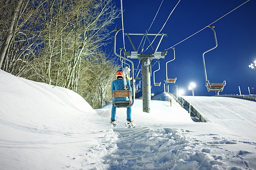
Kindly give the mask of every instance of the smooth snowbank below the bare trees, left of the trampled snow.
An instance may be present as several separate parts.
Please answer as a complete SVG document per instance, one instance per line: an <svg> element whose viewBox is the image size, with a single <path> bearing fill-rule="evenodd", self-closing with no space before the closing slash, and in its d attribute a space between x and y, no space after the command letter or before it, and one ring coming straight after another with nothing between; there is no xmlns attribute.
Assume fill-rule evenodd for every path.
<svg viewBox="0 0 256 170"><path fill-rule="evenodd" d="M0 77L1 169L79 169L84 151L109 133L75 92L2 70Z"/></svg>

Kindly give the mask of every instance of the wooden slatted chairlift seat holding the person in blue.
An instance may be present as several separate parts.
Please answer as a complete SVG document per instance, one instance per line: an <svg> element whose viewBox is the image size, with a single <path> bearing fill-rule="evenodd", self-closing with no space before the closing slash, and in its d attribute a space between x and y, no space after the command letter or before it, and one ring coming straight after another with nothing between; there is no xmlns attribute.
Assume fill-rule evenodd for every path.
<svg viewBox="0 0 256 170"><path fill-rule="evenodd" d="M116 90L113 91L113 105L118 108L131 107L131 90ZM115 100L117 97L128 97L129 100Z"/></svg>

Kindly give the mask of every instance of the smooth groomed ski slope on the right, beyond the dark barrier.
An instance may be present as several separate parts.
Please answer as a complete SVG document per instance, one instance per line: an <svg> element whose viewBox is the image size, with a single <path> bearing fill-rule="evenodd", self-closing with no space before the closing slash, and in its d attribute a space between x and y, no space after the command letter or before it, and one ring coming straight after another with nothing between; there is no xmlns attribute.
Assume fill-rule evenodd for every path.
<svg viewBox="0 0 256 170"><path fill-rule="evenodd" d="M256 102L231 97L183 96L214 124L256 141Z"/></svg>

